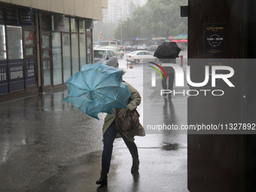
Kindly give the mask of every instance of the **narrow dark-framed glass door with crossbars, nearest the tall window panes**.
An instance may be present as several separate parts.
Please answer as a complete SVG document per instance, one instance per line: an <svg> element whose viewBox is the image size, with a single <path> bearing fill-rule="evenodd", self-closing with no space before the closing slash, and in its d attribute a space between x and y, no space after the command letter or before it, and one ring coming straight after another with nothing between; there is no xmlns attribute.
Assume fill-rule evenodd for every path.
<svg viewBox="0 0 256 192"><path fill-rule="evenodd" d="M53 66L50 32L41 33L41 60L43 63L44 86L53 85Z"/></svg>

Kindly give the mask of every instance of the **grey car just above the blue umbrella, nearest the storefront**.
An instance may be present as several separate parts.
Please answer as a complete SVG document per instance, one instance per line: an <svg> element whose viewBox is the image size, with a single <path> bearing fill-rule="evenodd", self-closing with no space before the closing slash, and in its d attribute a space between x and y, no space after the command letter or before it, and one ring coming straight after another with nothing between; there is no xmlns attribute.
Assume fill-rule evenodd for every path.
<svg viewBox="0 0 256 192"><path fill-rule="evenodd" d="M109 49L96 49L93 50L94 62L102 62L107 66L112 66L118 68L118 60L117 56L114 54L112 50Z"/></svg>

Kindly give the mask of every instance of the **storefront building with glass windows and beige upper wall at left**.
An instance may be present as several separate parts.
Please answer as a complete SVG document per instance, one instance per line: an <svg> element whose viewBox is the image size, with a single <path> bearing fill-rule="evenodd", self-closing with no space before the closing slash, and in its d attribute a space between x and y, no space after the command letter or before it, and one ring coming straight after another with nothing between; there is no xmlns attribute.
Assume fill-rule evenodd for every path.
<svg viewBox="0 0 256 192"><path fill-rule="evenodd" d="M0 1L0 102L64 86L93 62L107 0Z"/></svg>

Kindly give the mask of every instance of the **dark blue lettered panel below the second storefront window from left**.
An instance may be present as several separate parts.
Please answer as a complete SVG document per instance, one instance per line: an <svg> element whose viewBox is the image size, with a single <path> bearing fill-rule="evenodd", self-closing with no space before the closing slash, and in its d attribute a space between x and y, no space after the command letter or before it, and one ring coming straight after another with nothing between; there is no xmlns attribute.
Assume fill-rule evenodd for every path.
<svg viewBox="0 0 256 192"><path fill-rule="evenodd" d="M23 59L9 59L10 92L25 89Z"/></svg>

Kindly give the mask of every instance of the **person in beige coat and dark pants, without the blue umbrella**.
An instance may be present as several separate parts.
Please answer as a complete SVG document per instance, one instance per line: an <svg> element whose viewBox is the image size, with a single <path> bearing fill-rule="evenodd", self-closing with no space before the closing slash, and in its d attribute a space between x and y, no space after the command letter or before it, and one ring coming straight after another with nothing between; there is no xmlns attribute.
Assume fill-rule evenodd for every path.
<svg viewBox="0 0 256 192"><path fill-rule="evenodd" d="M141 103L141 96L139 92L132 87L130 84L124 82L128 86L128 90L131 92L130 102L127 104L128 108L122 108L116 114L116 108L111 109L111 114L107 114L103 124L103 152L102 152L102 172L101 177L96 184L108 184L108 171L111 163L111 154L113 149L114 139L120 135L123 138L130 154L133 157L133 166L131 169L132 173L138 172L139 170L139 154L137 146L134 142L134 136L145 136L145 130L141 124L136 130L130 132L118 132L114 119L117 117L124 117L128 110L133 111ZM119 134L118 134L119 133ZM119 136L119 137L120 137Z"/></svg>

